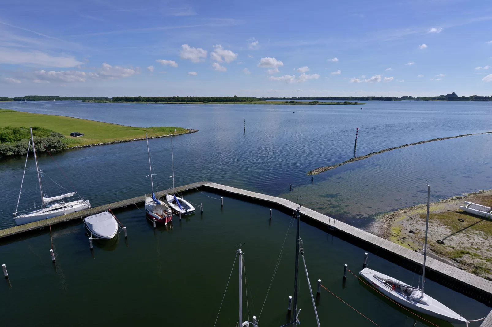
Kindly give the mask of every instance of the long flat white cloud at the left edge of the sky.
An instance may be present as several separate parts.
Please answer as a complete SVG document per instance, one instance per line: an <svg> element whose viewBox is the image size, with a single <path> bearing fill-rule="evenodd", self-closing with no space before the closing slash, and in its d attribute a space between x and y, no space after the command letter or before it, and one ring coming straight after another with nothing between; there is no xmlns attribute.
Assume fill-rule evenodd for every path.
<svg viewBox="0 0 492 327"><path fill-rule="evenodd" d="M41 51L24 52L7 48L0 48L0 63L40 67L75 67L82 64L81 61L76 60L73 56L56 56Z"/></svg>

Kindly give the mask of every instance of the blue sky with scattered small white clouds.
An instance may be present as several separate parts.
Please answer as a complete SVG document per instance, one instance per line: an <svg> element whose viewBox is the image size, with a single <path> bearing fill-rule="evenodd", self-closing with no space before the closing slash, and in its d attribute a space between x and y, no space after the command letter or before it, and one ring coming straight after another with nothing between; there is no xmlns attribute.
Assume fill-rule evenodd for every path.
<svg viewBox="0 0 492 327"><path fill-rule="evenodd" d="M0 96L492 95L486 0L0 5Z"/></svg>

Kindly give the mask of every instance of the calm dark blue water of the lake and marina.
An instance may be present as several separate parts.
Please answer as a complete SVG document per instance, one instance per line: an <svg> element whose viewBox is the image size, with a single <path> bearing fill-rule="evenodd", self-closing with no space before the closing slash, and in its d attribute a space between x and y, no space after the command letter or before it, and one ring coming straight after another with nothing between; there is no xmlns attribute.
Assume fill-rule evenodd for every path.
<svg viewBox="0 0 492 327"><path fill-rule="evenodd" d="M80 102L2 103L1 107L123 125L198 129L198 133L174 138L177 185L209 180L299 199L307 207L357 226L365 226L371 215L423 203L426 194L422 191L428 183L432 185L433 200L491 188L490 134L377 155L316 175L312 185L306 175L308 170L353 156L357 127L357 155L436 137L492 131L490 103L369 102L361 106L363 110L359 106ZM170 139L152 139L149 143L159 189L168 188ZM98 146L57 153L56 164L49 156L41 155L40 167L49 191L58 191L58 186L49 180L53 178L69 191L73 185L96 206L150 191L150 181L145 177L146 152L144 141ZM24 160L10 158L0 162L1 227L13 223ZM39 201L35 183L31 158L22 209L30 208L35 196ZM289 184L298 186L289 192ZM56 269L49 260L49 233L4 242L0 258L9 268L11 288L5 282L2 293L6 296L1 305L9 313L11 325L78 326L93 315L104 323L133 326L162 322L161 315L153 314L156 311L165 312L165 321L171 326L202 322L213 326L240 242L246 243L246 273L251 286L248 297L253 299L249 305L254 306L249 308L249 316L258 316L290 217L274 211L275 219L269 225L266 207L225 198L221 211L218 200L202 193L187 197L194 203L204 203L203 218L195 215L181 223L175 219L172 228L154 231L140 210L124 211L118 218L129 230L127 244L122 238L115 244L95 247L93 254L88 250L82 224L57 227L53 233ZM284 323L286 298L292 293L294 238L291 232L261 316L262 326ZM412 318L369 292L355 277L348 278L342 288L339 277L343 264L358 272L364 250L304 223L302 238L312 281L321 278L327 288L381 326L413 326ZM414 279L416 284L413 272L375 255L371 255L370 267L391 272L402 280ZM304 274L301 282L301 322L313 326ZM431 281L429 284L429 293L469 319L486 314L484 305ZM237 273L233 273L217 326L235 325L236 294ZM26 306L18 305L28 298L35 303L28 305L31 318L22 315ZM56 321L46 314L53 310ZM74 321L81 310L86 312L85 318ZM328 322L371 324L326 291L318 311L325 326ZM418 322L417 326L424 325Z"/></svg>

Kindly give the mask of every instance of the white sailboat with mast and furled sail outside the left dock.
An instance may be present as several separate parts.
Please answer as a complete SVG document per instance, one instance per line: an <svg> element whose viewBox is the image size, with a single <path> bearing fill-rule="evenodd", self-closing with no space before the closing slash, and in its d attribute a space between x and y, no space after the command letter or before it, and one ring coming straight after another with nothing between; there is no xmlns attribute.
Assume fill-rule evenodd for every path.
<svg viewBox="0 0 492 327"><path fill-rule="evenodd" d="M29 156L29 150L32 144L32 152L34 154L34 162L36 163L36 172L37 172L37 180L39 184L39 191L41 194L41 209L31 211L26 214L22 214L18 212L17 210L19 209L19 201L21 199L21 192L22 192L22 185L24 184L24 175L26 174L26 166L28 163L28 156ZM53 204L50 204L53 201L59 201L67 197L71 197L75 195L76 192L69 192L66 194L61 194L57 196L52 196L52 197L46 197L46 194L43 192L43 186L41 183L41 170L39 169L39 165L37 163L37 156L36 156L36 149L34 146L34 136L32 136L32 127L31 127L31 140L29 142L28 146L28 153L26 155L26 164L24 165L24 173L22 175L22 182L21 182L21 190L19 191L19 198L17 200L17 207L15 208L15 213L14 213L14 220L17 225L23 225L27 224L33 221L38 221L42 219L47 219L47 218L53 218L53 217L58 217L62 215L67 215L71 214L77 211L81 211L84 209L91 208L91 203L89 201L84 201L82 200L77 200L77 201L70 201L70 202L56 202ZM20 215L19 215L20 214Z"/></svg>

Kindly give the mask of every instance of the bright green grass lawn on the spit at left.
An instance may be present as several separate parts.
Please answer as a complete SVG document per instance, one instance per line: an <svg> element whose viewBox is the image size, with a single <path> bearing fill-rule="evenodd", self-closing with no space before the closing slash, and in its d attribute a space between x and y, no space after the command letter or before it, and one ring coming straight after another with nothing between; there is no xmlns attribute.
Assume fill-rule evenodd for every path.
<svg viewBox="0 0 492 327"><path fill-rule="evenodd" d="M181 127L131 127L87 119L0 109L0 127L5 126L44 127L65 135L65 143L69 146L140 138L145 137L145 133L149 136L162 136L188 131ZM71 137L72 132L84 133L84 136Z"/></svg>

